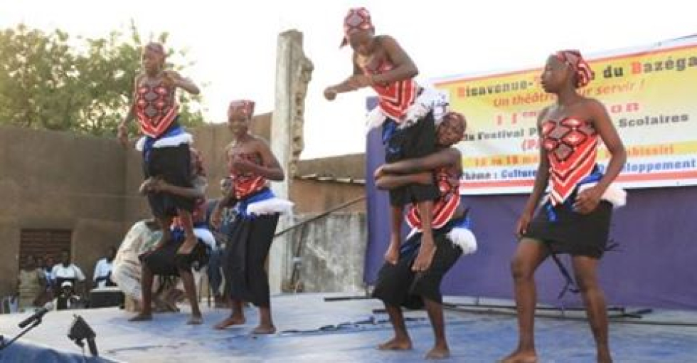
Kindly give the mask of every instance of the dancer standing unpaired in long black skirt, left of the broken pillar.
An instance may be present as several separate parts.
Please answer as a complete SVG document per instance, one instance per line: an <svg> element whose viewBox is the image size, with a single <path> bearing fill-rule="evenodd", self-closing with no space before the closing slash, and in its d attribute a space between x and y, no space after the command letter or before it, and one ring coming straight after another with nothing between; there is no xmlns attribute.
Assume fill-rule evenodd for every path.
<svg viewBox="0 0 697 363"><path fill-rule="evenodd" d="M225 149L232 185L211 216L220 227L223 208L235 208L235 221L229 226L223 270L228 284L232 311L215 328L225 329L245 323L243 302L259 308L259 325L254 334L272 334L276 327L271 315L269 281L264 263L269 254L280 214L289 213L292 203L274 196L268 181L285 176L265 140L250 134L254 102L238 100L228 107L228 127L233 142Z"/></svg>

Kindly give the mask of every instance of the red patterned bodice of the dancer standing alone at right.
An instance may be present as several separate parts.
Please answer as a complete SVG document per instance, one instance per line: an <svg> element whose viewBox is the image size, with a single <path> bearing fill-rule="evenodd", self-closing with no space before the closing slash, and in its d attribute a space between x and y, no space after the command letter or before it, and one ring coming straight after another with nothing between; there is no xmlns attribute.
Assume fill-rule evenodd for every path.
<svg viewBox="0 0 697 363"><path fill-rule="evenodd" d="M550 165L550 201L563 203L595 167L597 132L591 122L573 117L548 120L542 125L542 147Z"/></svg>

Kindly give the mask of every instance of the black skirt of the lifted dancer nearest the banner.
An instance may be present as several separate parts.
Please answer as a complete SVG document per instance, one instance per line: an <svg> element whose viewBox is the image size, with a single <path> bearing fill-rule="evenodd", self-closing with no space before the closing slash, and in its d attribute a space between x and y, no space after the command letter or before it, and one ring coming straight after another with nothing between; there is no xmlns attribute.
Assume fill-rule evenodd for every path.
<svg viewBox="0 0 697 363"><path fill-rule="evenodd" d="M385 137L385 162L393 163L404 159L425 157L435 152L436 132L433 112L414 125L402 130L395 130ZM394 127L395 121L388 119L383 124L383 135L387 128ZM411 184L390 189L390 205L404 206L419 201L435 200L440 195L438 186L434 184Z"/></svg>

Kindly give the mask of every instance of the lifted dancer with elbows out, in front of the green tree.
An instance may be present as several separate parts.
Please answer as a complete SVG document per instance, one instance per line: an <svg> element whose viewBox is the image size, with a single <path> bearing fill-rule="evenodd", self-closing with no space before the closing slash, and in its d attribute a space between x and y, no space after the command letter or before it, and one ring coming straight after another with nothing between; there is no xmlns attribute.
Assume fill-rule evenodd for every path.
<svg viewBox="0 0 697 363"><path fill-rule="evenodd" d="M176 89L181 88L197 95L200 91L195 84L179 73L164 69L166 53L160 43L149 43L143 47L143 71L135 79L133 103L128 115L119 125L119 140L128 142L127 122L137 118L144 137L137 143L143 152L143 171L145 179L159 178L166 183L182 188L191 188L189 145L192 137L179 125L179 103L176 102ZM161 227L162 238L158 247L171 238L169 226L172 218L179 216L183 222L186 239L179 248L180 255L186 256L196 246L193 234L191 212L195 200L168 192L149 192L147 194L152 214Z"/></svg>

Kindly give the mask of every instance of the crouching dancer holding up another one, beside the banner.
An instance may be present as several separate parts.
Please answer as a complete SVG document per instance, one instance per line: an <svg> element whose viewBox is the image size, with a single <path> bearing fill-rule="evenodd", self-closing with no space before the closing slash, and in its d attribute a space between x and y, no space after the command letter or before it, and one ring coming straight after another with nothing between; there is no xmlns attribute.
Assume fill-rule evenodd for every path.
<svg viewBox="0 0 697 363"><path fill-rule="evenodd" d="M395 332L392 339L378 346L379 349L411 349L412 342L401 306L420 308L425 305L435 336L435 343L426 358L449 357L440 283L459 256L477 249L477 241L469 231L467 211L459 196L462 156L458 149L452 147L462 140L465 127L462 115L449 112L436 129L437 152L419 159L385 164L376 170L378 188L390 189L411 183L431 184L435 177L441 193L434 206L436 249L429 268L420 273L411 268L415 251L422 243L422 220L419 210L412 206L407 220L414 229L401 248L398 263L387 262L378 273L373 297L383 300Z"/></svg>

